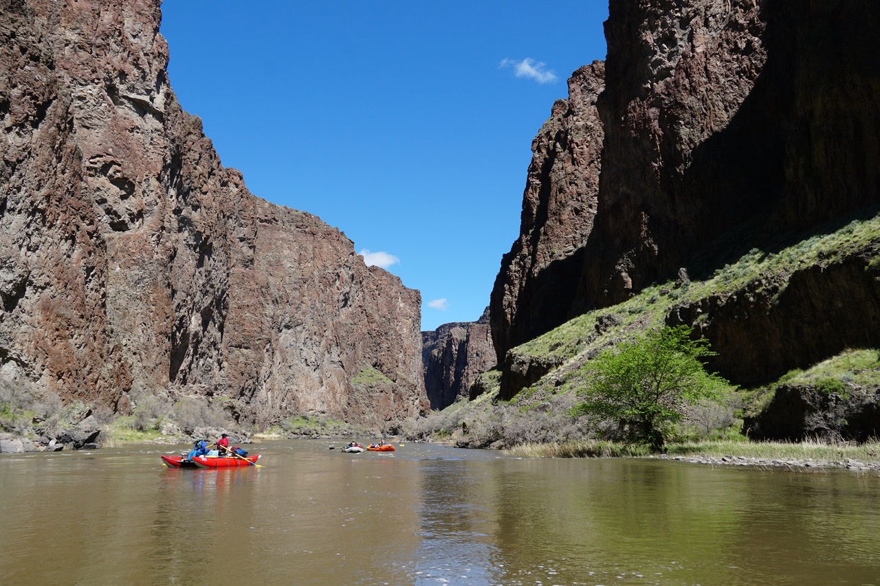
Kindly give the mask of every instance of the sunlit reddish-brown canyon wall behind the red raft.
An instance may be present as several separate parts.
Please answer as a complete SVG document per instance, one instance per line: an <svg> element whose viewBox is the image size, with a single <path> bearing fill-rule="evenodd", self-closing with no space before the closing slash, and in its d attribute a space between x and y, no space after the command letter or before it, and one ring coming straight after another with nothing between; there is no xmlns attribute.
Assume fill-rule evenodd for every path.
<svg viewBox="0 0 880 586"><path fill-rule="evenodd" d="M122 413L197 394L258 423L425 411L419 293L220 165L172 92L159 4L2 2L3 382Z"/></svg>

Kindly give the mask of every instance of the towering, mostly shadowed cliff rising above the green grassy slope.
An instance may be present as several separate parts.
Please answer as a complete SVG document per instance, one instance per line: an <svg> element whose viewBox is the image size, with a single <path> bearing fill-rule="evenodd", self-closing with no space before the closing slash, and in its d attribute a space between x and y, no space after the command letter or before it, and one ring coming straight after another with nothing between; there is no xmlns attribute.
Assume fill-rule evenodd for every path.
<svg viewBox="0 0 880 586"><path fill-rule="evenodd" d="M604 89L597 85L595 106L568 108L566 121L597 126L598 115L602 149L590 151L598 161L568 167L574 147L560 142L551 165L535 150L522 236L492 295L498 355L681 268L700 278L752 248L773 252L827 222L872 212L880 204L880 72L868 55L880 48L878 20L873 5L818 0L612 0ZM582 77L572 77L576 87ZM536 143L559 117L554 109ZM595 189L565 194L572 205L595 202L574 250L568 237L536 232L526 213L551 206L559 190L532 185L558 185L561 165L568 184ZM541 249L569 252L546 267ZM542 280L544 290L567 292L524 295ZM809 311L807 303L792 314ZM811 344L813 320L802 323L789 333ZM772 326L740 319L736 327L746 324L742 335L726 335L744 341L748 328ZM772 362L774 348L755 346L752 355ZM792 353L805 355L797 343L786 348Z"/></svg>

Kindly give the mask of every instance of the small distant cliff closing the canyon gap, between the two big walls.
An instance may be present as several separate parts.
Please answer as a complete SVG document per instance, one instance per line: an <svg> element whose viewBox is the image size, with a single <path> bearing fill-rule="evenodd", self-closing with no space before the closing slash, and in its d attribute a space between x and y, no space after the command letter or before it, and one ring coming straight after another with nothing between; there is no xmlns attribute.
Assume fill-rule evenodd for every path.
<svg viewBox="0 0 880 586"><path fill-rule="evenodd" d="M488 308L477 321L422 332L422 364L432 409L449 407L459 397L469 396L476 377L495 366Z"/></svg>

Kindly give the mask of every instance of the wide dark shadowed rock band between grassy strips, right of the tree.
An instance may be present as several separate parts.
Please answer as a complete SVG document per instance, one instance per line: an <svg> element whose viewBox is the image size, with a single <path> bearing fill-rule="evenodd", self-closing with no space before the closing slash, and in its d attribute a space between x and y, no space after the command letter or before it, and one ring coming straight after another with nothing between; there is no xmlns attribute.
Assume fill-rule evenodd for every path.
<svg viewBox="0 0 880 586"><path fill-rule="evenodd" d="M759 278L732 294L671 311L671 326L695 325L718 355L711 370L761 385L846 348L880 345L880 238L843 258Z"/></svg>

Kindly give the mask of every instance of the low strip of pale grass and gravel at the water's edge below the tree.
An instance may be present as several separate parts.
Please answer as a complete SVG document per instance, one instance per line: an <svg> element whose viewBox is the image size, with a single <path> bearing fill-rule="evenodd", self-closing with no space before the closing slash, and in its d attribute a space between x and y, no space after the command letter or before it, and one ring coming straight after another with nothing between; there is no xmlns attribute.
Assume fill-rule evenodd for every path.
<svg viewBox="0 0 880 586"><path fill-rule="evenodd" d="M673 443L664 454L611 442L524 443L508 450L519 458L662 458L703 465L798 470L848 469L880 472L880 443L732 442Z"/></svg>

